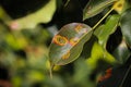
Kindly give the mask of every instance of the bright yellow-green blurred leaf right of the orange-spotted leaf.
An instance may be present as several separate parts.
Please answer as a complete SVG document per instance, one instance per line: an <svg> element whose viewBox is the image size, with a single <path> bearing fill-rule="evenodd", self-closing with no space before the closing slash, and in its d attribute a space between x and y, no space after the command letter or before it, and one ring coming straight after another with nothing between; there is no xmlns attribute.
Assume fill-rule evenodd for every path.
<svg viewBox="0 0 131 87"><path fill-rule="evenodd" d="M103 49L99 44L95 42L92 48L91 58L88 58L86 62L91 70L100 67L100 71L107 69L108 65L114 65L116 63L116 60L110 53Z"/></svg>

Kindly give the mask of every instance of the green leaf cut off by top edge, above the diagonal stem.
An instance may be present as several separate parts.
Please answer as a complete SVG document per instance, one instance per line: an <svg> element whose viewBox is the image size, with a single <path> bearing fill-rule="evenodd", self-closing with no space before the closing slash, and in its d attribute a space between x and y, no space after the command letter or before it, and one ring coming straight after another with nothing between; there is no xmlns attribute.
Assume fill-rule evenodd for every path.
<svg viewBox="0 0 131 87"><path fill-rule="evenodd" d="M100 13L105 8L117 0L90 0L83 11L83 20L90 18Z"/></svg>

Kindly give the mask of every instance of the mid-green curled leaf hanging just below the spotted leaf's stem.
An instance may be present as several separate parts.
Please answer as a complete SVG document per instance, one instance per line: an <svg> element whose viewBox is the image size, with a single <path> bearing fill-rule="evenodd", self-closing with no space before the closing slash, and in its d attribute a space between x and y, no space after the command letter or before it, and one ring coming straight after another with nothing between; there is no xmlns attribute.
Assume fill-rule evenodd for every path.
<svg viewBox="0 0 131 87"><path fill-rule="evenodd" d="M106 22L105 25L99 26L98 28L96 28L96 30L94 32L94 34L96 35L96 37L98 38L98 41L102 46L106 47L106 42L108 40L109 35L111 35L118 25L119 22L119 15L111 15L108 21Z"/></svg>

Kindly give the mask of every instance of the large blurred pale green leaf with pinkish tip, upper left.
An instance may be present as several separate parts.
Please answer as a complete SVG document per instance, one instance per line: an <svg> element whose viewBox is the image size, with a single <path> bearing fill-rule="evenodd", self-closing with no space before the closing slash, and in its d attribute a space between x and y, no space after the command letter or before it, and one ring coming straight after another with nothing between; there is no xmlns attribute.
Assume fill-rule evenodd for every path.
<svg viewBox="0 0 131 87"><path fill-rule="evenodd" d="M35 13L24 17L8 21L7 23L12 29L35 28L38 23L48 23L51 21L56 11L56 0L50 0L44 8Z"/></svg>

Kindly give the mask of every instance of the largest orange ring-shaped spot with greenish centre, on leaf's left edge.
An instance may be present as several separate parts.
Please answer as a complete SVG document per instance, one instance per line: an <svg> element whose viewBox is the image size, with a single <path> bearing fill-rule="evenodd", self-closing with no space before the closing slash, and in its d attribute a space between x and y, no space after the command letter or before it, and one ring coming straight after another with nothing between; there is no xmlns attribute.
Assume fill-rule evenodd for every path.
<svg viewBox="0 0 131 87"><path fill-rule="evenodd" d="M52 42L59 45L59 46L64 46L68 44L68 39L63 36L56 35L52 39Z"/></svg>

